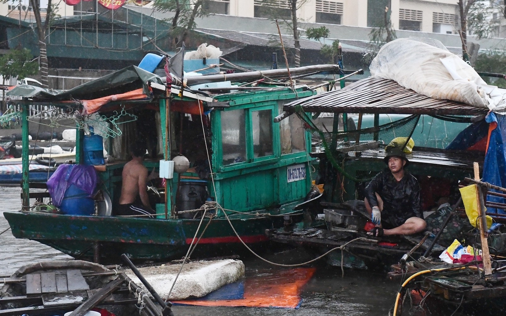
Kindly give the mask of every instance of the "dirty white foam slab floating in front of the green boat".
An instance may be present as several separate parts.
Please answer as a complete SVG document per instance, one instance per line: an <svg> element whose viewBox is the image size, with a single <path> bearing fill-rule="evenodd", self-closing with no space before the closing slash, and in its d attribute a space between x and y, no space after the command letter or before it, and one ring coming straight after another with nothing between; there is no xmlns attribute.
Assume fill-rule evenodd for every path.
<svg viewBox="0 0 506 316"><path fill-rule="evenodd" d="M180 268L181 264L168 264L138 269L160 297L166 299ZM132 270L126 270L125 273L135 283L142 284ZM241 260L226 259L185 263L168 300L203 297L243 277L244 263ZM141 287L146 291L144 285Z"/></svg>

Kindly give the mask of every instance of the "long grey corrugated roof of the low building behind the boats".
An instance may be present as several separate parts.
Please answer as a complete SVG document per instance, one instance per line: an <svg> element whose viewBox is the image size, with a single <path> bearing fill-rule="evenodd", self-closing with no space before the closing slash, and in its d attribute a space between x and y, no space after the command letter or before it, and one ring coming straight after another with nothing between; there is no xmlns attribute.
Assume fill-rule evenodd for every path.
<svg viewBox="0 0 506 316"><path fill-rule="evenodd" d="M275 47L279 46L279 36L278 34L267 34L267 33L256 33L256 32L244 32L244 31L230 31L230 30L216 30L216 29L204 29L204 28L196 28L195 31L210 35L216 36L220 38L225 38L228 40L237 41L240 43L244 43L247 45L254 46L269 46ZM293 36L291 35L282 35L283 44L285 47L293 48ZM333 40L326 38L322 40L323 43L331 44ZM303 50L317 50L319 51L322 47L322 43L317 40L307 39L304 37L300 38L301 49ZM343 52L351 52L351 53L363 53L366 51L366 48L369 46L368 42L360 41L360 40L341 40L343 45Z"/></svg>

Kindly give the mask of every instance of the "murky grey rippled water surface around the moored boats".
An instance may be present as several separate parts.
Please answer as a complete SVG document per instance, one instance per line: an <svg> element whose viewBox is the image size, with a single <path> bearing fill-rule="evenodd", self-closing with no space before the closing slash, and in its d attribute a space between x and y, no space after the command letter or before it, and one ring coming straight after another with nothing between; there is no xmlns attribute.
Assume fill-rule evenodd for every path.
<svg viewBox="0 0 506 316"><path fill-rule="evenodd" d="M0 187L0 210L20 209L20 188ZM0 214L1 212L0 211ZM0 215L0 233L9 227ZM274 262L297 263L310 257L300 251L283 251L266 254ZM70 259L69 256L46 245L25 239L15 239L10 231L0 235L0 275L8 275L23 264L44 260ZM280 267L272 266L259 259L245 259L246 275L255 276L265 273L265 269L276 271ZM314 277L301 293L302 306L298 310L255 307L199 307L175 306L176 315L388 315L392 307L398 284L386 279L385 273L373 273L363 270L345 270L316 265Z"/></svg>

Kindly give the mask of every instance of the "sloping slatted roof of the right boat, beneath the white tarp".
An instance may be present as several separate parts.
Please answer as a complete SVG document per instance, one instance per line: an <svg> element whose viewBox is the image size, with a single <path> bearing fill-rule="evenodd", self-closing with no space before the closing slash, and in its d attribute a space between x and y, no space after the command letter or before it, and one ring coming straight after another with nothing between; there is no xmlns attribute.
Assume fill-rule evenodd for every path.
<svg viewBox="0 0 506 316"><path fill-rule="evenodd" d="M479 115L488 112L488 109L417 94L394 80L371 77L341 90L288 103L283 108L285 111L294 110L297 105L302 105L305 112L439 115Z"/></svg>

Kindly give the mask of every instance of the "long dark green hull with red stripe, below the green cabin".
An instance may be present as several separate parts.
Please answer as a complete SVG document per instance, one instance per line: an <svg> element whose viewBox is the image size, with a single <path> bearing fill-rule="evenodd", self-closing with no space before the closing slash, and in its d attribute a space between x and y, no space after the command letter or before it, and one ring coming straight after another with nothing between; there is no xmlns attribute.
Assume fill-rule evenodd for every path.
<svg viewBox="0 0 506 316"><path fill-rule="evenodd" d="M4 212L12 234L51 246L75 258L92 258L99 245L103 260L180 259L192 243L199 219L145 219L114 216L75 216L34 212ZM231 218L237 234L248 245L268 241L266 229L279 227L282 217ZM197 238L205 228L202 221ZM196 240L194 241L194 243ZM230 254L242 246L225 218L213 218L198 247L207 256ZM237 247L238 248L238 247Z"/></svg>

